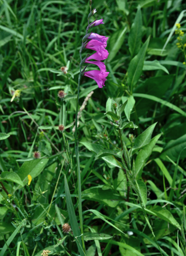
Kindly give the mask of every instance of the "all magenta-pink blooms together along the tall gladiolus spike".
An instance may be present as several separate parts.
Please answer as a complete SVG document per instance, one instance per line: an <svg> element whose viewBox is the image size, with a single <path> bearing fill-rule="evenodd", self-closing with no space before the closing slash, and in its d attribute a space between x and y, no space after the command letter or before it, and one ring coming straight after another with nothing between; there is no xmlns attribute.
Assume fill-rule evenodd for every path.
<svg viewBox="0 0 186 256"><path fill-rule="evenodd" d="M104 24L103 19L95 20L89 26L93 27L100 24ZM105 64L101 60L108 58L108 51L105 49L107 46L108 37L100 36L96 33L91 33L87 39L91 40L86 44L85 48L94 50L96 52L87 57L85 63L95 64L100 68L100 70L86 71L84 72L84 76L94 79L98 87L103 88L103 86L105 86L106 77L108 76L109 72L106 72Z"/></svg>

